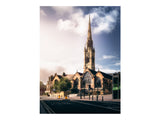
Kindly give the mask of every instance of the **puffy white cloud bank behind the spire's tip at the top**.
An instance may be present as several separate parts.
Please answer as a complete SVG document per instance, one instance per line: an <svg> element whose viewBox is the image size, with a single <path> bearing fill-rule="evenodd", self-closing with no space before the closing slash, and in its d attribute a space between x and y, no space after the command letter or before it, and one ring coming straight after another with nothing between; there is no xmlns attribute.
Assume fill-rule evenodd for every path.
<svg viewBox="0 0 160 120"><path fill-rule="evenodd" d="M69 15L69 19L58 20L57 27L59 30L69 30L81 36L87 34L89 15L83 15L82 10L75 10L73 7L55 7L54 9L56 9L59 14L67 13ZM101 8L96 8L90 13L91 22L94 19L94 24L96 24L96 26L92 27L94 34L98 34L100 32L109 33L115 28L118 17L118 10L112 10L109 13L104 14L104 16L100 16L101 14L104 14L104 11L101 11Z"/></svg>

